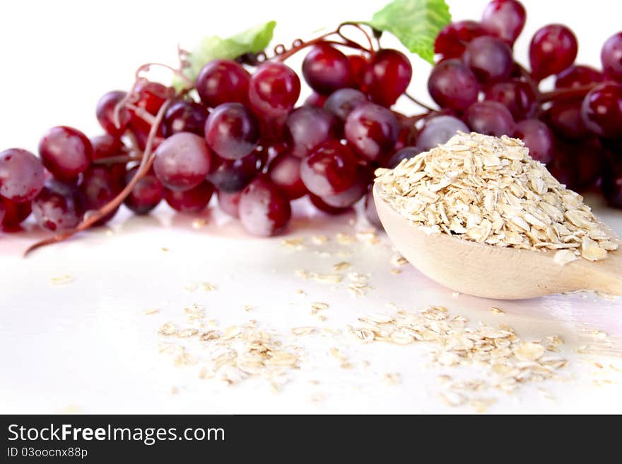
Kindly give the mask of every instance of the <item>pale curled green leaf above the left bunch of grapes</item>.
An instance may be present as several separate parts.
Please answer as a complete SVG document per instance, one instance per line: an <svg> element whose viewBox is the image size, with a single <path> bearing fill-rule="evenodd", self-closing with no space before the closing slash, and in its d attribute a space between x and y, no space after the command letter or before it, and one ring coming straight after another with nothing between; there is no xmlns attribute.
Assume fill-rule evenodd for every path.
<svg viewBox="0 0 622 464"><path fill-rule="evenodd" d="M217 35L205 37L188 56L189 66L184 74L192 81L199 76L199 71L206 63L213 59L234 59L245 53L257 53L265 49L272 40L275 21L269 21L240 32L240 34L223 39ZM183 81L175 77L172 85L181 88Z"/></svg>

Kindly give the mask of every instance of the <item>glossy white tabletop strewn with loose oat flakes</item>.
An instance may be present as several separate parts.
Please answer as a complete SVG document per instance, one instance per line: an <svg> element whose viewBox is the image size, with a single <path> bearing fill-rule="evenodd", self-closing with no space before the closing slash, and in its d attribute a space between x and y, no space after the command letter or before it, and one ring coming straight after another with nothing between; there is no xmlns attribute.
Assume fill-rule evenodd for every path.
<svg viewBox="0 0 622 464"><path fill-rule="evenodd" d="M619 212L597 210L622 232ZM488 391L484 396L497 398L488 412L622 412L621 302L593 294L519 302L456 297L409 265L392 275L394 252L384 234L380 244L337 244L336 232L368 227L356 215L327 221L323 215L301 214L290 236L325 234L331 238L325 246L307 240L307 248L296 251L283 246L281 238L251 239L237 221L213 208L204 215L208 225L197 229L192 218L165 206L143 218L119 215L110 227L26 259L20 252L40 233L1 236L0 412L473 412L440 400L438 376L456 371L426 366L433 344L361 345L290 333L298 326L341 330L356 325L359 316L392 312L387 302L409 310L444 305L472 323L506 323L525 340L561 335L561 354L569 360L561 371L564 380L526 385L511 395ZM316 249L333 256L321 256ZM339 250L352 255L334 256ZM371 275L367 296L349 295L346 283L305 281L293 272L327 273L343 260ZM52 285L50 279L60 275L74 281ZM217 288L190 292L184 287L192 282ZM298 289L307 295L298 295ZM327 321L310 315L310 302L330 304L323 311ZM264 379L228 386L199 379L199 366L175 366L171 357L158 353L164 338L157 329L165 321L184 326L183 308L192 303L203 305L206 319L216 319L221 329L255 319L284 343L300 345L305 353L300 369L274 393ZM247 304L254 309L245 311ZM491 305L506 314L491 313ZM160 312L146 316L145 309ZM607 333L609 345L595 340L589 333L593 329ZM581 345L594 352L578 354ZM331 347L339 347L353 368L341 369L329 355ZM198 345L189 352L201 355ZM400 383L382 381L384 374L395 372ZM481 379L482 372L469 367L459 376Z"/></svg>

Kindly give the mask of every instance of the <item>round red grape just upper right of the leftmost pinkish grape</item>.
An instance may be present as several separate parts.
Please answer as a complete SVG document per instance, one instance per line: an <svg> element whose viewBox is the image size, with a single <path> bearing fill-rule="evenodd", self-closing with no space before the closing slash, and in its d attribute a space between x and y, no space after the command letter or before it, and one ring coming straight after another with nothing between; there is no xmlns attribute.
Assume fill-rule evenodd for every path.
<svg viewBox="0 0 622 464"><path fill-rule="evenodd" d="M74 181L86 171L93 157L93 146L86 136L67 126L49 129L39 143L43 165L54 177Z"/></svg>

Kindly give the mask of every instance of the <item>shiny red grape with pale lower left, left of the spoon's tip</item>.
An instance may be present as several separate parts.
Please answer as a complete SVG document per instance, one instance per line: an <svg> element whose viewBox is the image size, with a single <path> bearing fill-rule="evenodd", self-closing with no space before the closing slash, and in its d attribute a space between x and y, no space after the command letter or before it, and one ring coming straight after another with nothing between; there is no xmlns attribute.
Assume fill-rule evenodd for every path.
<svg viewBox="0 0 622 464"><path fill-rule="evenodd" d="M358 175L356 158L346 145L331 141L319 145L300 165L300 177L315 195L339 194L351 187Z"/></svg>

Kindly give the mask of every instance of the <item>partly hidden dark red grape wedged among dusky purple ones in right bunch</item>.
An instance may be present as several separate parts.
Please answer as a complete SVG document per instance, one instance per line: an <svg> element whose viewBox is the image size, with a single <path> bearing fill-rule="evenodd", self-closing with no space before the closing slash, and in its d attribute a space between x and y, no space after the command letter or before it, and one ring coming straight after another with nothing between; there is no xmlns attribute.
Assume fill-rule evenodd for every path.
<svg viewBox="0 0 622 464"><path fill-rule="evenodd" d="M484 98L505 105L516 121L532 117L538 108L536 89L519 79L490 85L484 91Z"/></svg>

